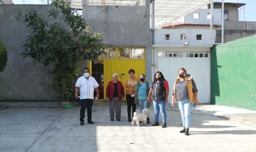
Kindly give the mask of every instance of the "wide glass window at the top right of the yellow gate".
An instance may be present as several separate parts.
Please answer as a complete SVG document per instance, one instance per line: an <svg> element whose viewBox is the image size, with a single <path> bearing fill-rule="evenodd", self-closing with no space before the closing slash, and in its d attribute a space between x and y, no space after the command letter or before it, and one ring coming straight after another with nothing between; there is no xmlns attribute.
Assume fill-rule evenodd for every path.
<svg viewBox="0 0 256 152"><path fill-rule="evenodd" d="M119 59L144 59L144 48L119 48Z"/></svg>

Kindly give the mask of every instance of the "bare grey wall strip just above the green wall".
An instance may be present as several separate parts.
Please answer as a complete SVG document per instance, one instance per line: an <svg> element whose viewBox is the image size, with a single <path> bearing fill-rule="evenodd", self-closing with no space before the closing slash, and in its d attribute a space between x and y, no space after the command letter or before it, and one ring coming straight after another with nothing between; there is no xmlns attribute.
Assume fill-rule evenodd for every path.
<svg viewBox="0 0 256 152"><path fill-rule="evenodd" d="M224 30L224 43L256 34L256 30ZM222 30L216 30L216 43L222 42Z"/></svg>

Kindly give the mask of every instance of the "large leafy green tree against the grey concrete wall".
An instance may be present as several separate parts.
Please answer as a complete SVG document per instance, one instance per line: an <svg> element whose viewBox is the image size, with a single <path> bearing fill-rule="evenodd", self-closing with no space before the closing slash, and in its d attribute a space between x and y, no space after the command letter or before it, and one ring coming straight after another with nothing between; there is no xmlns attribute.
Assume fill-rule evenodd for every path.
<svg viewBox="0 0 256 152"><path fill-rule="evenodd" d="M97 59L104 52L104 42L102 34L90 33L90 27L82 16L75 15L70 3L53 0L52 5L55 9L49 11L48 18L35 10L18 10L15 18L26 23L32 32L21 55L45 66L53 65L51 86L67 101L74 98L80 63ZM59 22L52 22L51 17L57 20L59 16Z"/></svg>

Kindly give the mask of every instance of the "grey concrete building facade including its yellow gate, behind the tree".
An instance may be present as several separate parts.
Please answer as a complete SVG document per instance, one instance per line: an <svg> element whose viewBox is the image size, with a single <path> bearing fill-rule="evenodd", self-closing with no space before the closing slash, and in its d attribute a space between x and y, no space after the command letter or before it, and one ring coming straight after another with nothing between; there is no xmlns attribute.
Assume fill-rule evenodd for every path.
<svg viewBox="0 0 256 152"><path fill-rule="evenodd" d="M83 17L91 32L102 32L108 54L98 61L86 62L92 76L100 83L101 99L104 99L106 84L113 73L125 81L129 69L135 70L152 80L152 30L150 29L150 2L140 5L96 6L83 5ZM26 24L17 22L18 9L37 10L46 14L52 5L0 5L0 36L7 48L8 61L5 71L0 73L0 100L59 100L51 89L51 67L23 59L23 45L30 34ZM106 56L108 55L108 56ZM104 58L103 58L104 56ZM82 73L81 73L82 74Z"/></svg>

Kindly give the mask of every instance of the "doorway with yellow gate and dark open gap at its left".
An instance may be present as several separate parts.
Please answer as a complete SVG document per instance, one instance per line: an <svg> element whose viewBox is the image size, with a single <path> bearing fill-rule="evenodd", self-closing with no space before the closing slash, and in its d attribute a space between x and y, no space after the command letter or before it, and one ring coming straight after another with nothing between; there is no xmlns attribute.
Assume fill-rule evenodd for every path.
<svg viewBox="0 0 256 152"><path fill-rule="evenodd" d="M113 73L119 75L119 81L125 83L129 69L135 70L135 77L146 73L145 48L106 48L96 61L90 62L92 77L99 83L100 100L106 100L106 85L112 80Z"/></svg>

